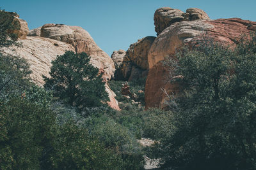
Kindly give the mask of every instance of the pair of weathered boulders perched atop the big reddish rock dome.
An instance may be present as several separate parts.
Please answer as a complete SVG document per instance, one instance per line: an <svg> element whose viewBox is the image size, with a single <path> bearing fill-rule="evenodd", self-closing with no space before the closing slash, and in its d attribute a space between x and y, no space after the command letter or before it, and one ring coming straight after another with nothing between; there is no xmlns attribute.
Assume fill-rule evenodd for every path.
<svg viewBox="0 0 256 170"><path fill-rule="evenodd" d="M173 23L189 20L210 20L210 18L205 11L198 8L189 8L184 13L177 9L163 7L157 9L154 14L155 31L159 35Z"/></svg>

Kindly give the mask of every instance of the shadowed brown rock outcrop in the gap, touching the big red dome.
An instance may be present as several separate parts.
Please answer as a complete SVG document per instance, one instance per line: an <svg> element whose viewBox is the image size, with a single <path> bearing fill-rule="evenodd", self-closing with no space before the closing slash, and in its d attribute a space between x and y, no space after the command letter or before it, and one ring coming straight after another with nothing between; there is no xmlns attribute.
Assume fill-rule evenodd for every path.
<svg viewBox="0 0 256 170"><path fill-rule="evenodd" d="M155 38L147 36L130 45L121 66L125 79L132 81L147 76L148 51Z"/></svg>

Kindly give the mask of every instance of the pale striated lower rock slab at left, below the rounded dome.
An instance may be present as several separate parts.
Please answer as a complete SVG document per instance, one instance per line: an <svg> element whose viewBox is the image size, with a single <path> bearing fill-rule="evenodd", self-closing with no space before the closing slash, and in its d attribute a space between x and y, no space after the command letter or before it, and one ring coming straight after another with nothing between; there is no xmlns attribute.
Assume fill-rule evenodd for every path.
<svg viewBox="0 0 256 170"><path fill-rule="evenodd" d="M49 38L28 36L18 42L22 43L22 47L4 48L3 52L27 59L30 69L33 71L31 78L40 86L44 85L42 75L50 76L51 61L56 59L57 55L63 55L66 50L75 51L72 45Z"/></svg>

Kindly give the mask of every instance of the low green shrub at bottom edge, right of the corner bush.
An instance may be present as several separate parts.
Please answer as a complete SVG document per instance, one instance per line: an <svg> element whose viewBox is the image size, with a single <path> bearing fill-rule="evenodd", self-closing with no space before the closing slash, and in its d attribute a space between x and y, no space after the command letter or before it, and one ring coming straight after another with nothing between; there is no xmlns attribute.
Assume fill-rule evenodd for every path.
<svg viewBox="0 0 256 170"><path fill-rule="evenodd" d="M86 129L68 122L58 127L45 169L122 169L117 153L89 136Z"/></svg>

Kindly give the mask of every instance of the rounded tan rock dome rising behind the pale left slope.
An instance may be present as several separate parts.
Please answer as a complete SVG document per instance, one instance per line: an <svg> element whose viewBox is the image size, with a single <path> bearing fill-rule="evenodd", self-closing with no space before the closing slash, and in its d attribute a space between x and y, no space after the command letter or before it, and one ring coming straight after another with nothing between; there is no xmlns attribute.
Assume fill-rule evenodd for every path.
<svg viewBox="0 0 256 170"><path fill-rule="evenodd" d="M56 39L74 46L77 53L85 52L91 57L93 66L102 71L104 80L113 77L115 66L108 54L102 51L90 34L81 27L63 24L45 24L41 28L40 36Z"/></svg>

